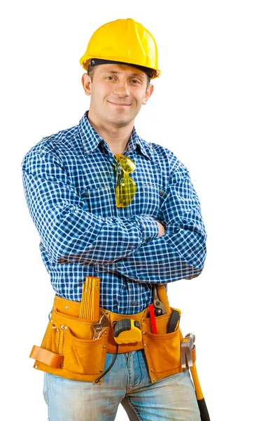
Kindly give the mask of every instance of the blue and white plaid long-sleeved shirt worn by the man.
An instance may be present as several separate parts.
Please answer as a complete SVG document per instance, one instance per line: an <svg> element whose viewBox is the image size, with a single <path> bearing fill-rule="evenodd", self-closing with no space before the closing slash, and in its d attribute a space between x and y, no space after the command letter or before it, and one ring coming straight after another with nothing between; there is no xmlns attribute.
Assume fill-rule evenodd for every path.
<svg viewBox="0 0 280 421"><path fill-rule="evenodd" d="M85 276L101 279L100 306L141 312L152 285L191 279L203 269L206 232L188 169L135 128L123 152L136 164L137 192L116 207L120 167L83 115L77 126L42 138L22 161L31 218L55 293L80 301ZM158 224L166 234L158 237Z"/></svg>

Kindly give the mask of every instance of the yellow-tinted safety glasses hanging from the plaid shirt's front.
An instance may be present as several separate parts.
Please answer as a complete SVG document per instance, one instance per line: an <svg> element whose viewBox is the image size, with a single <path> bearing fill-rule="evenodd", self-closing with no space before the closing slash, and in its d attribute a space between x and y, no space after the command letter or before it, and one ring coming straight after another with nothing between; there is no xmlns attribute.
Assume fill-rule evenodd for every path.
<svg viewBox="0 0 280 421"><path fill-rule="evenodd" d="M135 163L128 156L116 154L116 160L123 171L118 175L116 185L116 205L117 208L126 208L134 198L137 190L135 182L130 178L130 173L135 170Z"/></svg>

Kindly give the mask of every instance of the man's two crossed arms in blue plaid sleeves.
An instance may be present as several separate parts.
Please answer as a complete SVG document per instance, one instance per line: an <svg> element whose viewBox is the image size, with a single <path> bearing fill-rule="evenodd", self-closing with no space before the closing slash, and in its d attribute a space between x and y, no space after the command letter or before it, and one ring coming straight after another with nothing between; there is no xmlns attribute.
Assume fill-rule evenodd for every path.
<svg viewBox="0 0 280 421"><path fill-rule="evenodd" d="M170 282L202 272L206 233L188 170L179 165L158 221L103 218L85 210L58 156L30 152L22 178L31 218L50 258L94 265L139 282ZM160 223L162 222L166 228Z"/></svg>

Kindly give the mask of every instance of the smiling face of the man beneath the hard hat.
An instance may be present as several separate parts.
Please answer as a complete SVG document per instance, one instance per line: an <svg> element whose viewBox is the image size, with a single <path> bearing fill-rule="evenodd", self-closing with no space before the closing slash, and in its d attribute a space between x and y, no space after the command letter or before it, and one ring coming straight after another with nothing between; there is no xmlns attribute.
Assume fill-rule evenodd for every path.
<svg viewBox="0 0 280 421"><path fill-rule="evenodd" d="M114 127L134 122L141 106L153 93L146 73L128 65L97 65L92 81L83 74L83 88L91 95L89 115L97 123Z"/></svg>

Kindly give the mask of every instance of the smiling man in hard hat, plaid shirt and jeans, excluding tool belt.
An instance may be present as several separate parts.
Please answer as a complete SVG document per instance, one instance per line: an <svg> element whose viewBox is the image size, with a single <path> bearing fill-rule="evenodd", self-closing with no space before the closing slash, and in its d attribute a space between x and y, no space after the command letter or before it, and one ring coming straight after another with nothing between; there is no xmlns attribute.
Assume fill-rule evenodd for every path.
<svg viewBox="0 0 280 421"><path fill-rule="evenodd" d="M97 276L100 307L137 315L153 302L156 284L202 272L206 233L200 202L181 161L134 128L153 93L150 81L160 74L151 33L132 19L109 22L94 32L80 63L87 69L82 84L90 109L77 126L43 138L26 154L27 204L56 295L77 304L85 277ZM56 331L59 326L52 326L50 335ZM162 335L155 349L173 337ZM62 375L45 373L50 421L114 420L119 403L130 420L200 420L189 371L175 361L175 374L157 381L147 355L143 346L108 352L101 385L66 378L64 368ZM66 366L66 356L64 361Z"/></svg>

